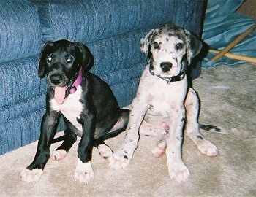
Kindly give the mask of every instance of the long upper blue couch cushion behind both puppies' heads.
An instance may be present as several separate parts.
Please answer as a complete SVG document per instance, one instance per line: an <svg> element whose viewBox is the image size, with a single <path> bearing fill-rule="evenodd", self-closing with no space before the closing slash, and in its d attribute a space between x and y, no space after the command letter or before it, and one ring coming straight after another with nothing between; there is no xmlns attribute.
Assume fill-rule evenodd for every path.
<svg viewBox="0 0 256 197"><path fill-rule="evenodd" d="M44 41L69 39L89 43L170 21L198 34L203 10L201 0L31 1L39 7Z"/></svg>

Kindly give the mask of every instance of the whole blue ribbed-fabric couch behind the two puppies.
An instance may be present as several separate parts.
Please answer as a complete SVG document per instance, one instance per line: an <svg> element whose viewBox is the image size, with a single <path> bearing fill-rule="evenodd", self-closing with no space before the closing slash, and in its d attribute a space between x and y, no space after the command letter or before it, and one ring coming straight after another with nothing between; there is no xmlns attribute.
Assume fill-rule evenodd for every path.
<svg viewBox="0 0 256 197"><path fill-rule="evenodd" d="M46 41L69 39L86 44L95 58L91 72L108 82L124 107L135 96L146 62L140 39L151 28L170 21L200 36L205 3L1 0L0 154L39 139L48 85L37 77L37 67Z"/></svg>

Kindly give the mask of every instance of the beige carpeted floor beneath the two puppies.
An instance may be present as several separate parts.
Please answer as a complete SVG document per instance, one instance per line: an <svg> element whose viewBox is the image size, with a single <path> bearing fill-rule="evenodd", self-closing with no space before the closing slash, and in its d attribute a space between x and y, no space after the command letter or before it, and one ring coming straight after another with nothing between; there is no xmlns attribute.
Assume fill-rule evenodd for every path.
<svg viewBox="0 0 256 197"><path fill-rule="evenodd" d="M110 169L94 150L94 181L89 185L72 178L78 142L64 161L48 161L39 182L26 184L19 174L34 158L33 143L0 156L0 196L256 196L256 65L203 69L194 88L201 100L200 123L219 125L229 134L203 133L218 147L215 158L201 155L185 137L183 158L191 174L187 182L169 179L166 157L154 158L154 139L142 136L124 170ZM116 150L123 138L108 144Z"/></svg>

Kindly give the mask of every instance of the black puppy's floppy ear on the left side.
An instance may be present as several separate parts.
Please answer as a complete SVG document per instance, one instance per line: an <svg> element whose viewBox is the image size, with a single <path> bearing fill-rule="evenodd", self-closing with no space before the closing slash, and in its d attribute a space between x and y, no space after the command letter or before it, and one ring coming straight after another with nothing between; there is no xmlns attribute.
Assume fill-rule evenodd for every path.
<svg viewBox="0 0 256 197"><path fill-rule="evenodd" d="M47 73L46 55L47 55L47 51L52 46L53 46L53 42L48 41L45 43L45 46L42 47L40 61L39 61L39 69L38 69L38 77L40 78L45 77L45 74Z"/></svg>

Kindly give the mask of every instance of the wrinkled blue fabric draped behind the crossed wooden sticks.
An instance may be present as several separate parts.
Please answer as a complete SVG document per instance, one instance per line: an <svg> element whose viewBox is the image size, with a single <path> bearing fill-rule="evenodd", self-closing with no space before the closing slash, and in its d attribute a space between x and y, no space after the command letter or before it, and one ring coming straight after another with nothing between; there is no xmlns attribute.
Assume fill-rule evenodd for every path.
<svg viewBox="0 0 256 197"><path fill-rule="evenodd" d="M230 42L244 33L256 23L255 18L236 12L244 0L208 0L206 20L203 25L203 40L211 49L223 50ZM246 36L230 50L230 53L256 58L256 31ZM211 67L219 64L236 65L245 61L237 61L223 56L218 61L210 61L214 53L208 53L203 66Z"/></svg>

